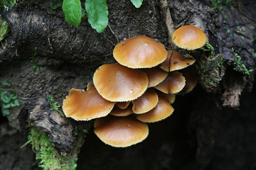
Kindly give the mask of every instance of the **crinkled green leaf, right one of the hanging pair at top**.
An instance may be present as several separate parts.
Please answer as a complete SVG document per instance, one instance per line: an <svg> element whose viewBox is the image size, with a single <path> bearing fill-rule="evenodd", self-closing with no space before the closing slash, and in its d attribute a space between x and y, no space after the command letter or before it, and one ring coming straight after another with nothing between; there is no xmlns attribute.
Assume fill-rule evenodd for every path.
<svg viewBox="0 0 256 170"><path fill-rule="evenodd" d="M86 0L85 11L92 28L102 33L108 23L107 0Z"/></svg>

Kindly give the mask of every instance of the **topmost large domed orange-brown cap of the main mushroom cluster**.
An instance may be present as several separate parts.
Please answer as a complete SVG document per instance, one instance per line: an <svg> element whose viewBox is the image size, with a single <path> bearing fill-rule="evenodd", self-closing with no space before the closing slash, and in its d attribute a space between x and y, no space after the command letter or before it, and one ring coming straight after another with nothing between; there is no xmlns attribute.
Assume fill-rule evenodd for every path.
<svg viewBox="0 0 256 170"><path fill-rule="evenodd" d="M114 47L114 59L130 68L150 68L164 62L167 51L161 42L139 35L119 42Z"/></svg>

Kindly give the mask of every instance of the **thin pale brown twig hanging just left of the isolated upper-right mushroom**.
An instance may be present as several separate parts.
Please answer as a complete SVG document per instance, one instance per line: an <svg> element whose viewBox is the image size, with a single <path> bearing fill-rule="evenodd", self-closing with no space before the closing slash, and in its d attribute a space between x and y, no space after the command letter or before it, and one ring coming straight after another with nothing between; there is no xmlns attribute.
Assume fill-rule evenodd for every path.
<svg viewBox="0 0 256 170"><path fill-rule="evenodd" d="M174 21L171 18L171 12L169 9L169 5L167 0L159 0L160 8L162 13L164 14L164 21L166 23L167 32L168 32L168 42L170 43L171 47L174 47L174 42L172 41L172 35L174 33Z"/></svg>

